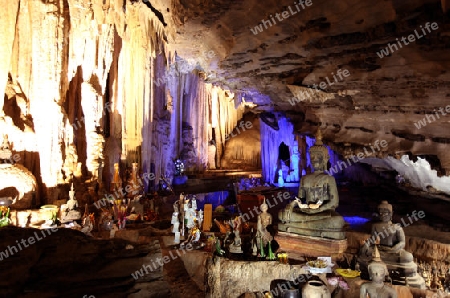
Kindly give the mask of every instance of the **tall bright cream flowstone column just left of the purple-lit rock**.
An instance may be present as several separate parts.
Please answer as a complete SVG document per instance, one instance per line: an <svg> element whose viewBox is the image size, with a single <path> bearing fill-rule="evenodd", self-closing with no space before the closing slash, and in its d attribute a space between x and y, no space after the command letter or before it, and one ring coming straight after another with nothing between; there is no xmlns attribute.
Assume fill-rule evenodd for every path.
<svg viewBox="0 0 450 298"><path fill-rule="evenodd" d="M123 43L118 78L121 88L117 95L121 107L119 113L123 117L122 156L127 165L137 162L142 171L148 173L152 162L166 160L152 156L155 102L158 99L154 85L158 79L155 59L157 53L164 52L166 33L159 19L141 2L127 3L124 21L127 26L118 29ZM159 177L164 174L165 166L156 169Z"/></svg>

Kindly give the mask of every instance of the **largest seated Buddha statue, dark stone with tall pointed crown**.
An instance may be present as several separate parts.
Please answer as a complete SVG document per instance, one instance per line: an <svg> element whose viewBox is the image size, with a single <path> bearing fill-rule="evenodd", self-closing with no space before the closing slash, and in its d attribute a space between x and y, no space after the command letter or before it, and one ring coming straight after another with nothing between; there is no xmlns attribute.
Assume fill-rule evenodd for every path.
<svg viewBox="0 0 450 298"><path fill-rule="evenodd" d="M336 180L324 173L330 156L322 143L320 130L309 153L314 172L302 177L298 197L279 212L278 218L282 223L278 225L278 230L305 236L345 239L345 221L334 211L339 205Z"/></svg>

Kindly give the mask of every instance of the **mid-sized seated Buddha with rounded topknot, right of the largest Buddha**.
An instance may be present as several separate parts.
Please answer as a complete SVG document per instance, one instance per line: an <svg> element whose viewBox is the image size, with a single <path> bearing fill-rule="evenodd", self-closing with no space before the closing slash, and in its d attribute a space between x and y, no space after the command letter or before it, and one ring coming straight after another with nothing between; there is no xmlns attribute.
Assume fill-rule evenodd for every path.
<svg viewBox="0 0 450 298"><path fill-rule="evenodd" d="M382 201L378 205L380 221L372 225L371 238L361 247L357 261L361 268L361 277L367 278L368 263L372 260L374 244L378 243L381 260L391 274L396 284L407 284L411 287L425 288L425 281L417 274L417 264L414 257L405 248L405 233L400 224L392 223L392 205Z"/></svg>

